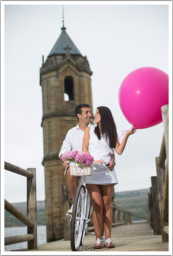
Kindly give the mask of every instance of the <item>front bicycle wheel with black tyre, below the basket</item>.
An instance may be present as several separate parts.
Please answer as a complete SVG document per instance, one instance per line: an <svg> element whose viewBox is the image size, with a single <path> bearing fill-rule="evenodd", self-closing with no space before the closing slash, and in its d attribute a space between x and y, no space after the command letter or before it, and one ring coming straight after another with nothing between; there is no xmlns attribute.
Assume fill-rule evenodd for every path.
<svg viewBox="0 0 173 256"><path fill-rule="evenodd" d="M85 219L85 187L79 185L74 198L70 242L72 251L78 251L83 234Z"/></svg>

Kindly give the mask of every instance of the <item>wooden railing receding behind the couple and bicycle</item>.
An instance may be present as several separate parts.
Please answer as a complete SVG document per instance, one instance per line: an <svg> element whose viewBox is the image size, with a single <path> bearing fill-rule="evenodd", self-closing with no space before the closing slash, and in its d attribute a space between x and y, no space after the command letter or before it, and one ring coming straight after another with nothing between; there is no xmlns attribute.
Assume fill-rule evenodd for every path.
<svg viewBox="0 0 173 256"><path fill-rule="evenodd" d="M70 240L70 221L69 217L66 216L66 212L69 210L69 197L68 197L68 185L62 184L62 211L63 211L63 224L64 224L64 240ZM112 226L130 225L131 212L112 205ZM88 224L86 234L94 230L93 224Z"/></svg>

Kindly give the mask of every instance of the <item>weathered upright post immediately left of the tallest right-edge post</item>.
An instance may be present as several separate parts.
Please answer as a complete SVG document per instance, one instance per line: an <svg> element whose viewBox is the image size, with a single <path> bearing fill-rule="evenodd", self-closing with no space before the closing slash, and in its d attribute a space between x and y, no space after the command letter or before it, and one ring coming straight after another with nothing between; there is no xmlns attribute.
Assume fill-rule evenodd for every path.
<svg viewBox="0 0 173 256"><path fill-rule="evenodd" d="M164 226L168 226L168 222L165 222L162 218L163 211L163 195L164 195L164 179L165 179L165 163L162 167L158 166L159 157L155 158L156 161L156 172L157 172L157 187L158 187L158 198L159 198L159 210L161 218L161 233L162 242L168 242L168 235L164 232Z"/></svg>

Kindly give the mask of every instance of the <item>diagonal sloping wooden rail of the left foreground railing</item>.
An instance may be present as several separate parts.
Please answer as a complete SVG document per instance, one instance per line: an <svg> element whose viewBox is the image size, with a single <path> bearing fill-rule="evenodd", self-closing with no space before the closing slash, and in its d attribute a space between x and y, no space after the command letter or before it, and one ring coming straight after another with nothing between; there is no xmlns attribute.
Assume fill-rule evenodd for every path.
<svg viewBox="0 0 173 256"><path fill-rule="evenodd" d="M22 212L20 212L16 207L14 207L11 203L5 200L5 210L10 212L14 217L23 222L26 226L32 228L34 223L27 218Z"/></svg>

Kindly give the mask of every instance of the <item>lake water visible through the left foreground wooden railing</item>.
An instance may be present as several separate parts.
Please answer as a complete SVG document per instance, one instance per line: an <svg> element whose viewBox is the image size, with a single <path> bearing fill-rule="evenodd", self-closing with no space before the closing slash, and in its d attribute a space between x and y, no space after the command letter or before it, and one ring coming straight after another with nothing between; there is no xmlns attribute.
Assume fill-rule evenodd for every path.
<svg viewBox="0 0 173 256"><path fill-rule="evenodd" d="M27 227L5 228L5 237L26 235ZM37 244L47 243L46 226L37 226ZM28 242L5 245L5 251L18 250L28 247Z"/></svg>

